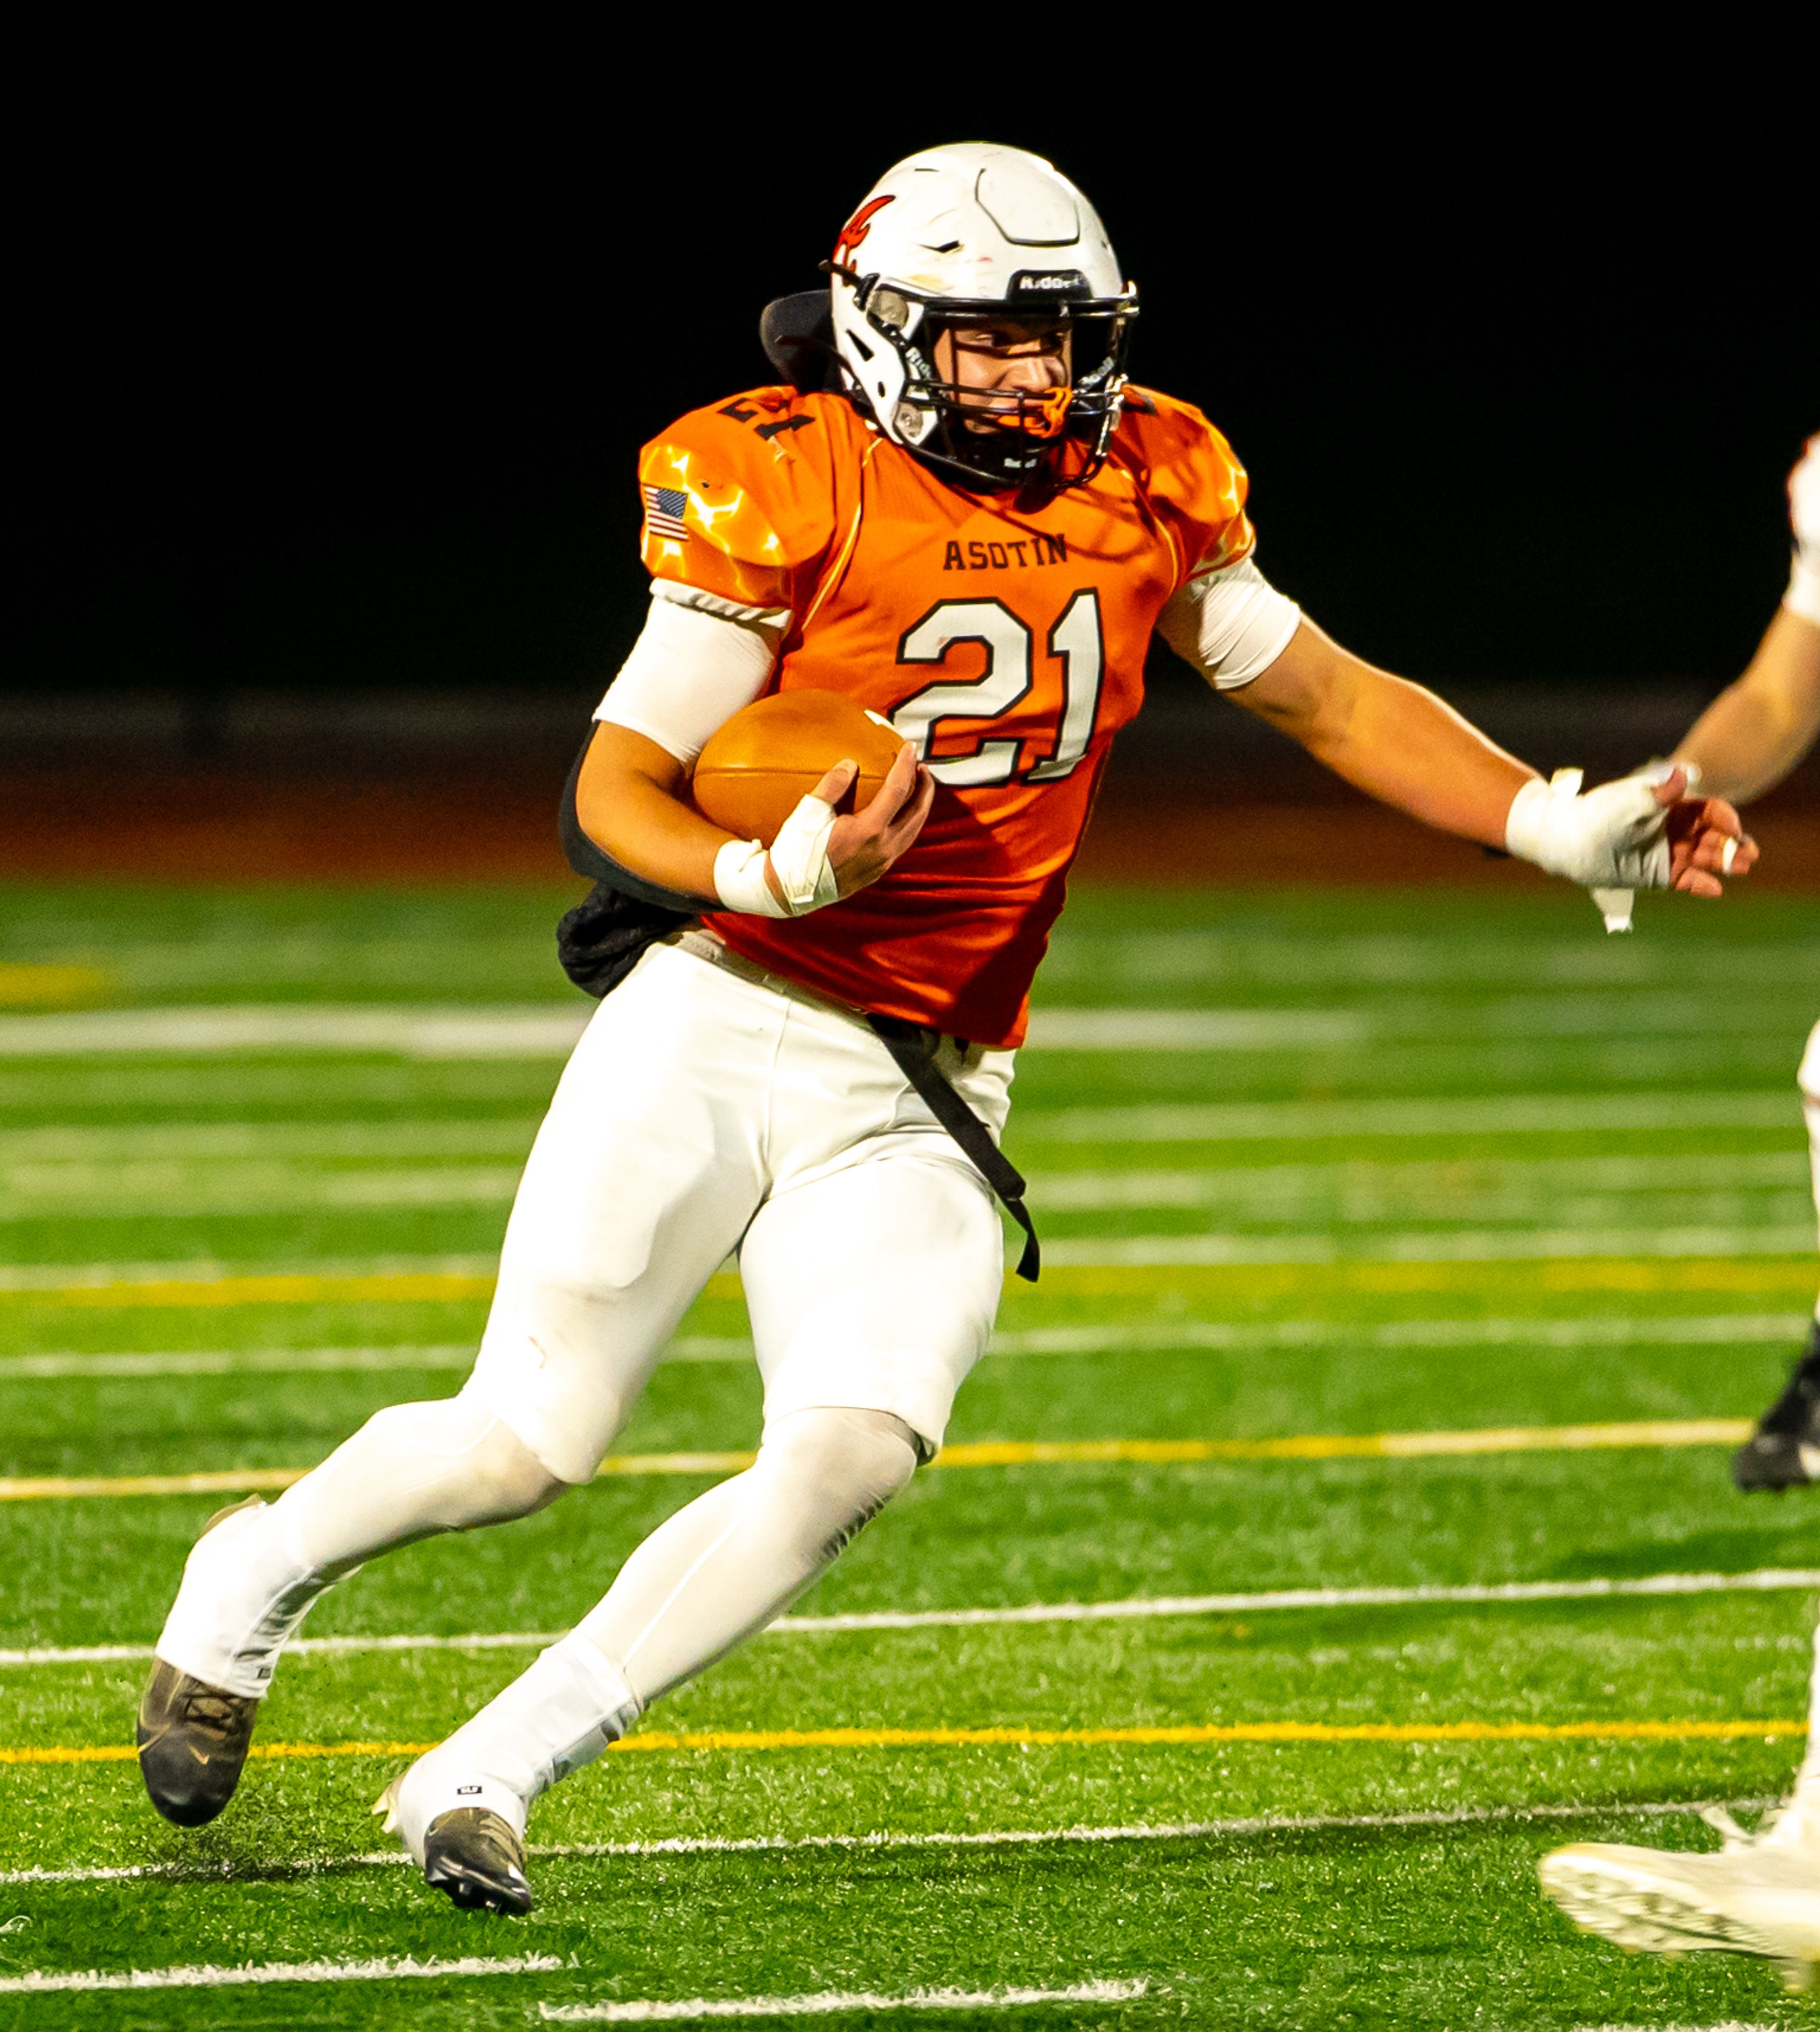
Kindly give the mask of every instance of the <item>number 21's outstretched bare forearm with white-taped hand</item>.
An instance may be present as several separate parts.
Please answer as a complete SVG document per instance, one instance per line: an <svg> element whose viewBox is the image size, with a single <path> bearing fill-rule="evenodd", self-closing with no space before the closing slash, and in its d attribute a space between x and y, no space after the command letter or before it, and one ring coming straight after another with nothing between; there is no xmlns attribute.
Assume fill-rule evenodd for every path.
<svg viewBox="0 0 1820 2032"><path fill-rule="evenodd" d="M1444 699L1373 669L1306 618L1231 697L1369 797L1574 882L1718 896L1720 872L1743 874L1757 858L1731 805L1684 797L1684 772L1552 792Z"/></svg>

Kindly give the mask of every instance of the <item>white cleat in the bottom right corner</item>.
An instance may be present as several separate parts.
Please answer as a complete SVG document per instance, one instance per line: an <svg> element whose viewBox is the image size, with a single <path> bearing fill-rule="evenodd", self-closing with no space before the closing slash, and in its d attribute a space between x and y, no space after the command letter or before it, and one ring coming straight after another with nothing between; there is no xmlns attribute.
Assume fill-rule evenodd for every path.
<svg viewBox="0 0 1820 2032"><path fill-rule="evenodd" d="M1619 1947L1763 1955L1804 1989L1820 1963L1820 1815L1785 1806L1755 1835L1716 1806L1702 1819L1725 1835L1718 1855L1576 1841L1542 1859L1542 1888Z"/></svg>

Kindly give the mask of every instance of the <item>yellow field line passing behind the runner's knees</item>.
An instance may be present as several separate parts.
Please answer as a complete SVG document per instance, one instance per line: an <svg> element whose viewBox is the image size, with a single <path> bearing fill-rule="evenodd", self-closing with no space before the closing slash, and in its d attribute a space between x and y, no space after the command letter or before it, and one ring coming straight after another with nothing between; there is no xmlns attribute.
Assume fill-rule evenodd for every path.
<svg viewBox="0 0 1820 2032"><path fill-rule="evenodd" d="M1737 1447L1749 1418L1639 1424L1513 1424L1483 1433L1308 1433L1298 1439L985 1439L945 1447L934 1467L1030 1467L1066 1461L1418 1461L1467 1453L1588 1453L1613 1447ZM609 1453L601 1475L737 1475L754 1453ZM41 1475L0 1479L0 1502L67 1496L228 1496L288 1489L307 1467L225 1467L201 1475Z"/></svg>

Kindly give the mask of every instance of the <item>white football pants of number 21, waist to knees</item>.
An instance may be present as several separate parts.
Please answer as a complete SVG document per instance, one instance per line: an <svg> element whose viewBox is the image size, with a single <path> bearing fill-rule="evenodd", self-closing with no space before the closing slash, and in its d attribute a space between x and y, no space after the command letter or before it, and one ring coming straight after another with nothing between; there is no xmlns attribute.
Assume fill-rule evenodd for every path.
<svg viewBox="0 0 1820 2032"><path fill-rule="evenodd" d="M940 1065L1003 1130L1012 1053ZM563 1073L463 1396L587 1481L735 1250L766 1424L880 1410L932 1457L1003 1284L985 1181L861 1018L658 945Z"/></svg>

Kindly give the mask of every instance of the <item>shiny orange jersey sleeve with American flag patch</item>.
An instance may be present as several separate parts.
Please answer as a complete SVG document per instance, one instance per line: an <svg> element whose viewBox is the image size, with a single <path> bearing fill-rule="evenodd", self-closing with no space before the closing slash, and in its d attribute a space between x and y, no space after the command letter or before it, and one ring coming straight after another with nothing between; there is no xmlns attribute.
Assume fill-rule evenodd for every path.
<svg viewBox="0 0 1820 2032"><path fill-rule="evenodd" d="M697 408L638 457L640 551L658 583L788 628L835 536L827 423L794 388Z"/></svg>

